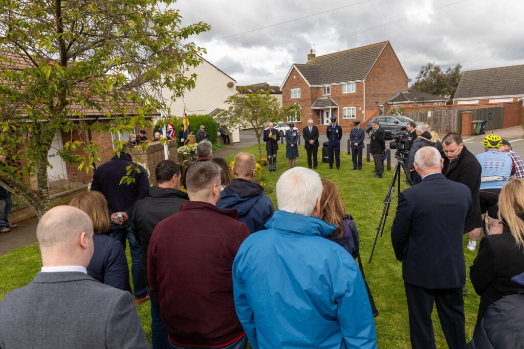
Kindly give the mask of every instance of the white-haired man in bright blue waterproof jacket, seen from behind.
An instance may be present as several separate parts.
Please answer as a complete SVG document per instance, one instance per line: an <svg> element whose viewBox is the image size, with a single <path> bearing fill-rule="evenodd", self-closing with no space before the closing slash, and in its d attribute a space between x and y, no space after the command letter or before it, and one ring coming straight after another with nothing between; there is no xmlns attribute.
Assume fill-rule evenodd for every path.
<svg viewBox="0 0 524 349"><path fill-rule="evenodd" d="M304 167L277 182L280 211L233 262L238 319L257 348L376 348L373 314L353 257L325 239L320 176Z"/></svg>

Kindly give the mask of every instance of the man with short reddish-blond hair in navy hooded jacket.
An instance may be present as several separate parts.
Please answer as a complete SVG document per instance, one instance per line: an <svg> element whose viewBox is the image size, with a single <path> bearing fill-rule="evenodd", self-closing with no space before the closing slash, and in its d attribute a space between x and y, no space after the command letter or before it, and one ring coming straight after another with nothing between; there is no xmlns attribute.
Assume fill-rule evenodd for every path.
<svg viewBox="0 0 524 349"><path fill-rule="evenodd" d="M266 229L264 224L275 212L264 187L253 182L256 165L253 154L238 153L233 166L235 179L222 190L222 198L216 204L221 210L236 209L238 220L247 224L250 233Z"/></svg>

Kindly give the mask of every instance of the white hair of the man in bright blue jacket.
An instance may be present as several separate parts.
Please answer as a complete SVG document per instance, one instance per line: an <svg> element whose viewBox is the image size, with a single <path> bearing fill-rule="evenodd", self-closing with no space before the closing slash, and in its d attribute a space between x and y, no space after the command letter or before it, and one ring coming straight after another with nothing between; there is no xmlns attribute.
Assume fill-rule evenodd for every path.
<svg viewBox="0 0 524 349"><path fill-rule="evenodd" d="M278 178L276 190L279 210L310 216L322 195L322 182L318 173L294 167Z"/></svg>

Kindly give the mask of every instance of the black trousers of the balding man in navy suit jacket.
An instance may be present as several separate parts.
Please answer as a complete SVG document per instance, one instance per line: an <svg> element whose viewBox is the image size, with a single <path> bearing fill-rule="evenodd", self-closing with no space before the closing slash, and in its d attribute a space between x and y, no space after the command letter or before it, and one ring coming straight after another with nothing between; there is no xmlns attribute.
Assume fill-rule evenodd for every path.
<svg viewBox="0 0 524 349"><path fill-rule="evenodd" d="M466 346L466 332L462 287L437 289L407 283L404 284L404 287L408 300L412 348L436 348L433 322L431 321L434 302L447 346L450 349L463 349Z"/></svg>

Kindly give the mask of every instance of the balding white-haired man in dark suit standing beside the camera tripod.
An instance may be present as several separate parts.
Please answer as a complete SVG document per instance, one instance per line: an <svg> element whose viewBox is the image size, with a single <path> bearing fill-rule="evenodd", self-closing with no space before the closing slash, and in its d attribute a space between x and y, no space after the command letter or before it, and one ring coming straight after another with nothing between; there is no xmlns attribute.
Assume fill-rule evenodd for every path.
<svg viewBox="0 0 524 349"><path fill-rule="evenodd" d="M417 151L414 166L422 182L399 194L391 227L395 256L402 261L413 348L435 348L433 302L447 345L466 345L463 233L472 199L468 187L444 177L442 163L436 148Z"/></svg>

